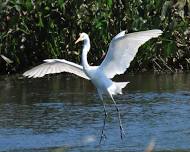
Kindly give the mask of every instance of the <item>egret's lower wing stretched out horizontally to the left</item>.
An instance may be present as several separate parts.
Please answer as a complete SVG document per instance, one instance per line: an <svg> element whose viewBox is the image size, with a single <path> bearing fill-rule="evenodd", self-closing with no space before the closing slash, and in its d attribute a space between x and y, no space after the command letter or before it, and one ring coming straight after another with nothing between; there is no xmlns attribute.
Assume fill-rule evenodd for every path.
<svg viewBox="0 0 190 152"><path fill-rule="evenodd" d="M69 72L89 80L89 77L83 71L83 67L76 63L64 59L47 59L44 62L26 71L23 75L29 78L38 78L46 74Z"/></svg>

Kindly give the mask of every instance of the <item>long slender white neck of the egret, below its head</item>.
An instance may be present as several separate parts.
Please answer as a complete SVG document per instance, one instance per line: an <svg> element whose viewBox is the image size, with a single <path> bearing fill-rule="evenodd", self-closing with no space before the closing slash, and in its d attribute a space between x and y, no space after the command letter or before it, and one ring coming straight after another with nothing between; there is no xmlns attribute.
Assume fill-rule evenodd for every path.
<svg viewBox="0 0 190 152"><path fill-rule="evenodd" d="M83 49L82 49L82 66L83 66L84 70L86 70L90 67L88 64L88 61L87 61L87 54L88 54L89 50L90 50L90 39L87 38L84 40L84 45L83 45Z"/></svg>

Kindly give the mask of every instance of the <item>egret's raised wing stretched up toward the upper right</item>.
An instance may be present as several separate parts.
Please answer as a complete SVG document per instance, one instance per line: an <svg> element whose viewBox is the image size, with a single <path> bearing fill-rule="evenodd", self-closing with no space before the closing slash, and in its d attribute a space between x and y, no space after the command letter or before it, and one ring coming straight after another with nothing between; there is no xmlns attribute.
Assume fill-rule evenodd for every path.
<svg viewBox="0 0 190 152"><path fill-rule="evenodd" d="M108 78L116 74L122 74L130 66L138 48L151 38L162 34L161 30L149 30L125 34L125 31L117 34L111 41L108 53L100 65L100 69Z"/></svg>

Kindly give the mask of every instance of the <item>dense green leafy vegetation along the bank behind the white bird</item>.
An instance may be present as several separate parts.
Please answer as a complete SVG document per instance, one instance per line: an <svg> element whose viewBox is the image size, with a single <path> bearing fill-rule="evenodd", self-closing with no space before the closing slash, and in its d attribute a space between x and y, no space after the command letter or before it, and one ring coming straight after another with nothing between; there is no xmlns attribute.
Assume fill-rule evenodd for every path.
<svg viewBox="0 0 190 152"><path fill-rule="evenodd" d="M164 34L146 43L131 71L190 69L190 0L0 0L0 72L22 72L46 58L80 63L80 32L90 35L89 62L99 64L111 38L159 28Z"/></svg>

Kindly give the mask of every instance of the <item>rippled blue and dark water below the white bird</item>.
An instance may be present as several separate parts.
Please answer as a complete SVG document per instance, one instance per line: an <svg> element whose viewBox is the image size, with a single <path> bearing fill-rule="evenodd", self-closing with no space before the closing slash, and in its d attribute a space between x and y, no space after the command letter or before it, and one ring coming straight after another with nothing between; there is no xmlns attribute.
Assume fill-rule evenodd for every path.
<svg viewBox="0 0 190 152"><path fill-rule="evenodd" d="M126 136L108 98L107 139L98 145L104 112L89 81L59 75L0 77L0 151L190 151L190 75L125 75L131 83L115 99Z"/></svg>

